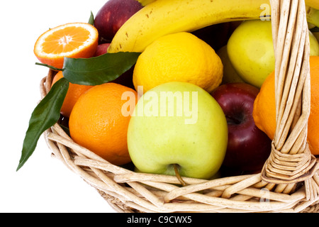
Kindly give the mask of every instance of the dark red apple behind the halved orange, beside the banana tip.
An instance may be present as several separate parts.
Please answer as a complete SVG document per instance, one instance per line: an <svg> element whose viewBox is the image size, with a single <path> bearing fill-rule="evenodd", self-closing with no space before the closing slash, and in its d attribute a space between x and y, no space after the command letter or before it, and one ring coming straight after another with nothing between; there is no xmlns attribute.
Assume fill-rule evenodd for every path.
<svg viewBox="0 0 319 227"><path fill-rule="evenodd" d="M101 42L110 42L128 18L142 9L135 0L108 0L96 13L94 26L99 31Z"/></svg>

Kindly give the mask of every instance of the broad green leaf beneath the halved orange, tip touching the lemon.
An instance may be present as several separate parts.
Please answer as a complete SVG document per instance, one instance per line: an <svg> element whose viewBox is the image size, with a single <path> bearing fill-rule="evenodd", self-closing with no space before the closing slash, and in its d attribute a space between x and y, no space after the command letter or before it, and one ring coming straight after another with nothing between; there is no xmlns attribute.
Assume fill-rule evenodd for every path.
<svg viewBox="0 0 319 227"><path fill-rule="evenodd" d="M99 85L111 82L130 70L140 52L106 53L99 57L65 57L63 76L72 84Z"/></svg>

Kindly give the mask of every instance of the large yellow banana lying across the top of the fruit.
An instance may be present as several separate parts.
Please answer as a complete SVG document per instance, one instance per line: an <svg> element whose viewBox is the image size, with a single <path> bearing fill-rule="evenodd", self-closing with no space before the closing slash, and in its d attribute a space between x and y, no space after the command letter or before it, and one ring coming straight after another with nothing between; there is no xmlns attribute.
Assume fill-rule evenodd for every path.
<svg viewBox="0 0 319 227"><path fill-rule="evenodd" d="M229 21L270 19L269 0L138 0L144 6L120 28L108 52L142 52L163 35ZM318 0L306 4L319 8ZM316 15L315 9L312 15ZM318 12L318 10L317 10ZM311 21L311 18L308 18ZM317 26L319 21L312 20ZM317 23L317 24L316 24Z"/></svg>

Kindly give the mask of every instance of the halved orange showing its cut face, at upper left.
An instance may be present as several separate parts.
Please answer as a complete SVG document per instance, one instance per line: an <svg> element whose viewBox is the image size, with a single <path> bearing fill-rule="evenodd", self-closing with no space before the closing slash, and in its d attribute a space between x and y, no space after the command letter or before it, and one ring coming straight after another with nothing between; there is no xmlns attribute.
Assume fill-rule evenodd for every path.
<svg viewBox="0 0 319 227"><path fill-rule="evenodd" d="M67 23L45 31L35 42L34 53L43 64L62 68L64 57L94 56L99 33L89 23Z"/></svg>

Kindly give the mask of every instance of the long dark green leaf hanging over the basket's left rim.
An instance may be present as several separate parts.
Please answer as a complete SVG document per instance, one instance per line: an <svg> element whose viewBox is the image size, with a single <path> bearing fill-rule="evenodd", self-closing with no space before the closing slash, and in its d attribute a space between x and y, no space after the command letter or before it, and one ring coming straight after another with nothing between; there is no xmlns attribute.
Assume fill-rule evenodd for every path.
<svg viewBox="0 0 319 227"><path fill-rule="evenodd" d="M60 110L67 94L67 89L69 89L69 82L64 78L59 79L52 86L50 92L35 107L23 140L21 159L17 171L33 154L40 135L59 120Z"/></svg>

